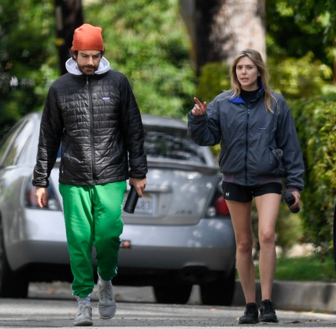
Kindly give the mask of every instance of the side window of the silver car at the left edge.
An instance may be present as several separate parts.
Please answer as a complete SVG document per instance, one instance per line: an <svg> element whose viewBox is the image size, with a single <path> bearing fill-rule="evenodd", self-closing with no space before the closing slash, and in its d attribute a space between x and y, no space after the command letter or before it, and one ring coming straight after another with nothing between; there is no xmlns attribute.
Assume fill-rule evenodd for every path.
<svg viewBox="0 0 336 329"><path fill-rule="evenodd" d="M29 140L32 132L32 125L33 123L31 121L26 121L19 125L12 133L10 133L7 140L1 146L0 156L2 156L1 164L3 167L16 164L22 149ZM6 146L6 150L2 150L2 147L4 146Z"/></svg>

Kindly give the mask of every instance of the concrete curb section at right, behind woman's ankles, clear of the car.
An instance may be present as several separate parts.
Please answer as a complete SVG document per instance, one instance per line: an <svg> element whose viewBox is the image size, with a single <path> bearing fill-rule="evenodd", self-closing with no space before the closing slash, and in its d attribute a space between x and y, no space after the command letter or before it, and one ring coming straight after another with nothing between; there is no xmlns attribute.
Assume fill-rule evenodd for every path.
<svg viewBox="0 0 336 329"><path fill-rule="evenodd" d="M260 281L255 282L256 303L261 301ZM292 311L336 312L336 283L274 281L272 301L276 308ZM232 306L245 306L241 283L236 280Z"/></svg>

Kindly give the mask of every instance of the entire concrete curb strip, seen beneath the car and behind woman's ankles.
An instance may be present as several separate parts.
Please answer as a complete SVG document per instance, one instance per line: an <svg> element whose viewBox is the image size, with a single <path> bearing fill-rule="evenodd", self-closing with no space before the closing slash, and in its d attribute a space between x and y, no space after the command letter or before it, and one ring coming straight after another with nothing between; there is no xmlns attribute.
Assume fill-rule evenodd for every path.
<svg viewBox="0 0 336 329"><path fill-rule="evenodd" d="M95 288L95 291L97 288ZM68 282L32 282L29 286L30 298L73 299L71 284ZM114 286L117 301L155 303L153 289L150 286ZM92 300L98 297L91 296ZM260 282L256 282L256 302L261 300ZM275 281L272 301L276 309L284 311L308 311L336 313L336 283ZM194 286L188 304L201 304L199 286ZM242 286L236 280L232 306L245 307Z"/></svg>

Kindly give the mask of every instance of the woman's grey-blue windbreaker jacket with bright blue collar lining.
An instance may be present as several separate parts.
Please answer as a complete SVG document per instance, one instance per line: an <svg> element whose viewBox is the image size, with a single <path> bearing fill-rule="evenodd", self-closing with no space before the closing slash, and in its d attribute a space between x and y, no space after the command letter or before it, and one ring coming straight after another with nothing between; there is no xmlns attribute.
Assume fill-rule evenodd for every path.
<svg viewBox="0 0 336 329"><path fill-rule="evenodd" d="M220 142L223 180L243 186L269 182L303 189L304 165L291 110L281 94L272 91L274 114L266 110L264 91L249 105L229 92L217 95L203 116L188 114L189 136L199 145Z"/></svg>

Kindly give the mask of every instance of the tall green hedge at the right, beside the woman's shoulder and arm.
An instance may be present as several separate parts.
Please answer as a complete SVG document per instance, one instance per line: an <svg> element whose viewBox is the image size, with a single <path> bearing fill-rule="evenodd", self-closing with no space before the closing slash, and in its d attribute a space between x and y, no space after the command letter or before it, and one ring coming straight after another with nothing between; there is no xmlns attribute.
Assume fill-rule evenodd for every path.
<svg viewBox="0 0 336 329"><path fill-rule="evenodd" d="M326 82L332 71L310 52L298 59L269 57L267 64L270 85L291 105L304 157L303 238L325 257L332 252L336 202L336 90Z"/></svg>

